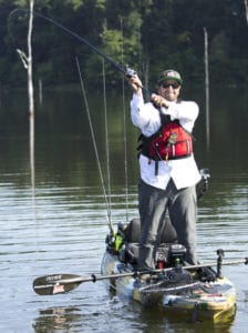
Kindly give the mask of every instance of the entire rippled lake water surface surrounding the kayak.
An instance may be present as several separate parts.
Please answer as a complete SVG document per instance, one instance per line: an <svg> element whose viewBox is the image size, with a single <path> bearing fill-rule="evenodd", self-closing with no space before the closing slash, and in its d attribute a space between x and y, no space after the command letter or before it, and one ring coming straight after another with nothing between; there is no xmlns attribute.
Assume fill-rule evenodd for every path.
<svg viewBox="0 0 248 333"><path fill-rule="evenodd" d="M93 95L93 92L95 95ZM246 92L247 93L247 92ZM89 95L112 223L137 216L137 130L120 92L107 97L111 179L107 181L102 93ZM196 94L196 95L195 95ZM198 255L215 261L248 256L248 97L215 91L210 138L204 103L196 123L195 155L210 170L209 191L198 204ZM127 172L123 119L126 112ZM225 265L237 289L237 312L228 323L188 323L111 295L103 282L82 283L54 296L32 290L37 276L100 273L105 249L106 204L80 91L44 92L35 110L35 178L32 186L24 92L0 99L0 330L1 332L247 332L248 266ZM127 186L126 186L127 183ZM110 191L111 189L111 191Z"/></svg>

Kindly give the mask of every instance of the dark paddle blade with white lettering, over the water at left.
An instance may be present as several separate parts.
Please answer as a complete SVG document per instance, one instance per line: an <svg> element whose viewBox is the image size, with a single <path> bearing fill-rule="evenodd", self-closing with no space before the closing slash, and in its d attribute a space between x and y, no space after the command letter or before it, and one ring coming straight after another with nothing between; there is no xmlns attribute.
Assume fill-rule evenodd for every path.
<svg viewBox="0 0 248 333"><path fill-rule="evenodd" d="M70 292L81 282L82 276L74 274L45 275L33 281L33 290L39 295L55 295Z"/></svg>

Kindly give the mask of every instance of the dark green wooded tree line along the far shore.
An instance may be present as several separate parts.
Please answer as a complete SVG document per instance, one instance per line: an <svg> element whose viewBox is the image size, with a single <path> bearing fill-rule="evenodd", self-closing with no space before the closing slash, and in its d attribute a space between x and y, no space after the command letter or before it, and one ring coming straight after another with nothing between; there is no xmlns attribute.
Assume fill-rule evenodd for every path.
<svg viewBox="0 0 248 333"><path fill-rule="evenodd" d="M35 0L34 11L81 36L121 67L156 82L167 68L185 82L204 84L204 29L208 32L210 82L248 83L247 0ZM0 89L22 88L27 73L17 49L27 49L29 0L0 0ZM10 14L11 13L11 14ZM34 82L44 87L79 83L75 57L97 87L102 58L53 22L34 16ZM107 84L120 72L104 63Z"/></svg>

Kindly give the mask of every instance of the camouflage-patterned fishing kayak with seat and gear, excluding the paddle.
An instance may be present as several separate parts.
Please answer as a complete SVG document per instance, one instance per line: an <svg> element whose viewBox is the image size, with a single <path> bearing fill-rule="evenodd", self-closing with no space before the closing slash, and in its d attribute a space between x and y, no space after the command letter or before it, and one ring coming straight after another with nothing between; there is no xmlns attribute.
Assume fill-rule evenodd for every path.
<svg viewBox="0 0 248 333"><path fill-rule="evenodd" d="M188 265L184 261L186 249L177 243L175 232L166 221L166 239L163 240L162 231L162 243L156 250L156 269L138 272L140 228L138 219L134 219L120 224L114 235L106 236L101 273L124 275L106 280L111 290L144 306L158 306L167 314L176 312L192 321L210 319L217 322L234 316L236 289L221 276L221 251L217 271L207 264ZM131 272L133 274L125 276Z"/></svg>

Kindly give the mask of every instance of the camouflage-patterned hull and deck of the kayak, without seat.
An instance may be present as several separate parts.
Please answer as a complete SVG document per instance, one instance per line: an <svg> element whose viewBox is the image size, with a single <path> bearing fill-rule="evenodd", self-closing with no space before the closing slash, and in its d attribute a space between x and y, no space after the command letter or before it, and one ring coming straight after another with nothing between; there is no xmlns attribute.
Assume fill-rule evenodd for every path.
<svg viewBox="0 0 248 333"><path fill-rule="evenodd" d="M117 255L105 252L102 261L102 274L132 272L132 265L120 262ZM175 272L175 268L172 271ZM159 306L166 313L179 312L197 320L208 317L218 321L234 315L236 309L236 290L226 278L202 282L194 278L196 272L188 274L192 280L168 281L167 274L146 276L127 276L110 279L108 286L121 296L130 297L145 306ZM178 275L179 276L179 275Z"/></svg>

